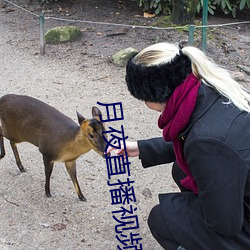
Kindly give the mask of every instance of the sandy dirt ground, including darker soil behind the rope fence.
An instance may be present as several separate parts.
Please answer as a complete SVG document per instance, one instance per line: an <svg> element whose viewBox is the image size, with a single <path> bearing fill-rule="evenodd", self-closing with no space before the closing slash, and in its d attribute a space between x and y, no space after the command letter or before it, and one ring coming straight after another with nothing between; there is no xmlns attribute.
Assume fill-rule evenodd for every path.
<svg viewBox="0 0 250 250"><path fill-rule="evenodd" d="M32 13L45 10L46 17L143 26L159 20L159 17L143 18L143 11L129 0L79 0L70 4L60 1L52 8L40 7L36 1L13 1L17 2ZM238 19L209 17L209 24L246 20L249 15ZM158 41L187 40L187 32L52 19L46 19L45 27L47 30L69 24L82 28L81 40L46 45L46 53L41 56L38 17L9 4L0 9L1 96L18 93L39 98L75 121L76 110L90 117L91 107L97 102L122 102L124 120L107 126L119 129L123 125L128 140L160 136L158 114L129 95L124 68L116 67L110 58L127 47L140 50ZM249 23L210 28L207 41L208 55L237 73L246 87L249 87L249 76L239 72L237 65L250 66L249 34ZM195 45L200 46L198 35ZM103 107L99 108L105 112ZM116 249L117 222L112 218L112 211L120 206L111 205L103 158L91 151L77 160L78 181L87 202L78 200L61 163L55 164L49 199L44 194L44 168L38 150L30 144L19 145L27 170L20 173L7 141L5 145L6 156L0 162L0 249ZM158 203L159 193L178 191L170 177L171 165L145 170L138 159L131 159L130 171L139 218L139 229L131 232L140 235L143 249L161 249L150 234L147 217Z"/></svg>

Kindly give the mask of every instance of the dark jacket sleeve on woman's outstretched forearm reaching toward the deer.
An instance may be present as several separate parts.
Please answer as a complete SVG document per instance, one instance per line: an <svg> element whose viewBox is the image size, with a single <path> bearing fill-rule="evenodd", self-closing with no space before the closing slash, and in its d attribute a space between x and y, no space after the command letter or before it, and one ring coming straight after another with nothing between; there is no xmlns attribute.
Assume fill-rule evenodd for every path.
<svg viewBox="0 0 250 250"><path fill-rule="evenodd" d="M175 153L171 142L163 137L139 140L138 147L142 166L144 168L175 161Z"/></svg>

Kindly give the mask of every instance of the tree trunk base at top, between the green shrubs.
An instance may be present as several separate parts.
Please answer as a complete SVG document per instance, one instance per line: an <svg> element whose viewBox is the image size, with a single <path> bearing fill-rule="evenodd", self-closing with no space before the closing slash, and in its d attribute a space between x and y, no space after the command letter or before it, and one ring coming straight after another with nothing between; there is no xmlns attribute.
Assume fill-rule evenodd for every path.
<svg viewBox="0 0 250 250"><path fill-rule="evenodd" d="M178 25L192 24L198 0L173 0L171 22Z"/></svg>

